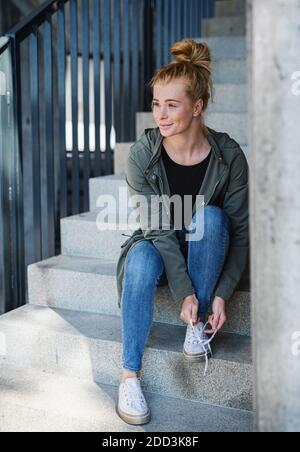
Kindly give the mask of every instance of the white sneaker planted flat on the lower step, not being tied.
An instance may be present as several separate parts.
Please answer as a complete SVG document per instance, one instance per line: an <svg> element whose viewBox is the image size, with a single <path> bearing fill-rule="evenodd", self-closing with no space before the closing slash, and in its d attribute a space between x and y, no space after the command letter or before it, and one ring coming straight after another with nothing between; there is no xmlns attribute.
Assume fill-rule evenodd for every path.
<svg viewBox="0 0 300 452"><path fill-rule="evenodd" d="M150 421L150 410L139 378L127 378L120 384L116 411L127 424L142 425Z"/></svg>

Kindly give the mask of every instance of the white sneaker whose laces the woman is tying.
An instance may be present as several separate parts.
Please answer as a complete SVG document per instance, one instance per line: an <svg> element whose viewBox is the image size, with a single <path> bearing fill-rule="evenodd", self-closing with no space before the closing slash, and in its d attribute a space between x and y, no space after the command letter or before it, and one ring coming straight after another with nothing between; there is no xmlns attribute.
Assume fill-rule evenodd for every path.
<svg viewBox="0 0 300 452"><path fill-rule="evenodd" d="M190 362L198 363L205 360L205 371L206 375L208 369L208 358L212 356L212 350L210 342L215 337L215 332L209 339L205 333L205 329L208 323L205 325L200 322L197 325L193 325L191 321L186 330L186 336L183 346L183 356Z"/></svg>

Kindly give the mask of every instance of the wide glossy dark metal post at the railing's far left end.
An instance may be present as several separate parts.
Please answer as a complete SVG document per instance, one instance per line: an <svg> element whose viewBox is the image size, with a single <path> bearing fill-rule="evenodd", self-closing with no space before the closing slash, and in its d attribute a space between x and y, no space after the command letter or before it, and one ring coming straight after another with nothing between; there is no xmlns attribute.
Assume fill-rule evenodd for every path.
<svg viewBox="0 0 300 452"><path fill-rule="evenodd" d="M12 54L0 38L0 313L20 306L24 293L24 234L20 153L14 115ZM20 221L21 220L21 221Z"/></svg>

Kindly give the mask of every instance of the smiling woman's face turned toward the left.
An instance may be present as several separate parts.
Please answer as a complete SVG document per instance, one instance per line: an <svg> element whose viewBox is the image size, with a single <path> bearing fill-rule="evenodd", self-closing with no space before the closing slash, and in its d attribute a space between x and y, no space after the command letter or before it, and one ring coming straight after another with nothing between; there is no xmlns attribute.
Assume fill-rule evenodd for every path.
<svg viewBox="0 0 300 452"><path fill-rule="evenodd" d="M180 79L154 86L153 117L164 137L186 132L193 119L201 114L202 107L202 100L193 105L186 95L186 84Z"/></svg>

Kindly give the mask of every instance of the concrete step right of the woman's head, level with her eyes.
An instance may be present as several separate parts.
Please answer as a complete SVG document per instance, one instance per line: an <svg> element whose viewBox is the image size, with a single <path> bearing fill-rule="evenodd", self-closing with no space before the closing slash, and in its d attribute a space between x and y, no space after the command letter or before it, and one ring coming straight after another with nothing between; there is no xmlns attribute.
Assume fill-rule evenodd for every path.
<svg viewBox="0 0 300 452"><path fill-rule="evenodd" d="M216 84L214 91L214 102L209 103L207 113L247 113L246 84Z"/></svg>

